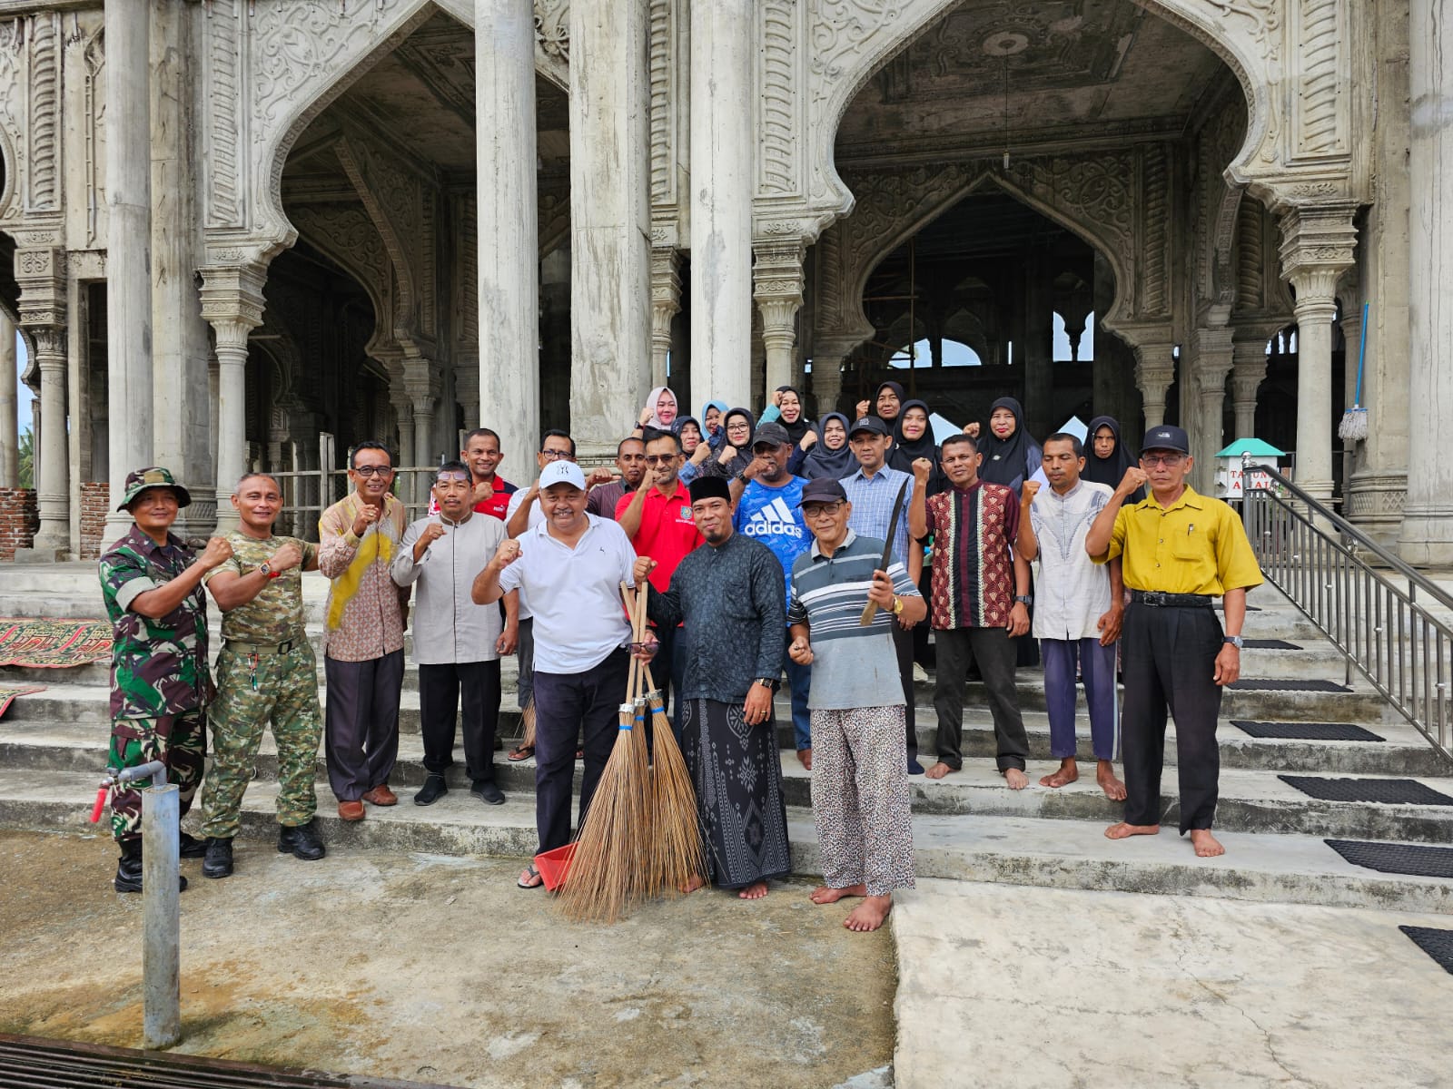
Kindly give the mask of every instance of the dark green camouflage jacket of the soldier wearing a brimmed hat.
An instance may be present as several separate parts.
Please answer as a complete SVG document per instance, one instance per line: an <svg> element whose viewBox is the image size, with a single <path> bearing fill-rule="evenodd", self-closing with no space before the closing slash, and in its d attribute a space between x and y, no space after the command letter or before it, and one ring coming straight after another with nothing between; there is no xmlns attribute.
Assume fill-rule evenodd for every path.
<svg viewBox="0 0 1453 1089"><path fill-rule="evenodd" d="M199 582L163 617L144 617L131 603L192 565L182 539L166 544L132 526L100 558L100 594L110 617L110 717L154 719L206 706L206 594Z"/></svg>

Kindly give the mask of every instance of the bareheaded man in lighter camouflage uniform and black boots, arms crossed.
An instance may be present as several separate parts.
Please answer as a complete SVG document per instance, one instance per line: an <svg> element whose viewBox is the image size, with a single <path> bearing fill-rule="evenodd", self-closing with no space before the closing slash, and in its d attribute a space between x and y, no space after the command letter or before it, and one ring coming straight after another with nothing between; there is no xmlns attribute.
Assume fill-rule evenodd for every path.
<svg viewBox="0 0 1453 1089"><path fill-rule="evenodd" d="M273 536L282 492L272 476L248 473L238 481L232 507L241 520L241 529L227 534L232 558L206 576L222 610L222 652L208 714L212 767L202 791L203 877L232 873L243 791L269 723L278 742L278 849L309 861L325 854L312 823L323 736L318 665L302 620L302 572L317 569L318 546Z"/></svg>

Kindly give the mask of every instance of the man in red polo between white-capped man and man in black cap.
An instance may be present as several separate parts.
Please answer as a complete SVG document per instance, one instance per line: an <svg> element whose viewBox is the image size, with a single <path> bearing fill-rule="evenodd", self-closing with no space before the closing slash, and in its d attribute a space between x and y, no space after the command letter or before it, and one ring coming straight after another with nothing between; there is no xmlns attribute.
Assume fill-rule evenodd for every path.
<svg viewBox="0 0 1453 1089"><path fill-rule="evenodd" d="M676 434L647 431L647 476L641 481L641 486L622 495L616 504L616 523L631 537L636 555L655 560L651 584L663 594L671 585L676 565L702 543L702 534L696 530L696 520L692 517L692 498L677 479L683 460L681 440ZM670 710L670 688L680 687L673 665L673 650L679 632L676 629L664 632L657 629L655 635L660 648L652 659L651 677L661 688L661 697Z"/></svg>

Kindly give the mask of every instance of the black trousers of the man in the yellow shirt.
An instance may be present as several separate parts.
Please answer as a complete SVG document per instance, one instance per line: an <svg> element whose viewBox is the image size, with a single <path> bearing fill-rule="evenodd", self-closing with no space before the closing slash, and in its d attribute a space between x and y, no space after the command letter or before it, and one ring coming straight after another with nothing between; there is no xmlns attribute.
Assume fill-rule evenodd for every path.
<svg viewBox="0 0 1453 1089"><path fill-rule="evenodd" d="M1159 608L1132 601L1125 610L1120 755L1126 823L1161 822L1168 710L1175 719L1180 831L1210 828L1221 775L1216 720L1222 690L1213 680L1221 639L1221 620L1210 608Z"/></svg>

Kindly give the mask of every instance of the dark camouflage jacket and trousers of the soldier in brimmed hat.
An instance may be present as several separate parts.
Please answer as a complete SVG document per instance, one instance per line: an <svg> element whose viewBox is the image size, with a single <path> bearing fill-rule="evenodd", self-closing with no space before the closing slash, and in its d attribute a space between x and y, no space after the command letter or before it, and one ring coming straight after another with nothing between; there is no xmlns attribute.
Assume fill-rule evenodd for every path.
<svg viewBox="0 0 1453 1089"><path fill-rule="evenodd" d="M198 585L182 604L155 620L131 611L148 590L182 575L193 556L180 537L157 544L137 526L100 558L100 592L110 617L110 751L106 767L134 768L153 759L167 765L180 788L180 809L192 807L206 761L203 723L212 678L206 672L206 594ZM116 839L141 836L141 790L151 780L110 794Z"/></svg>

